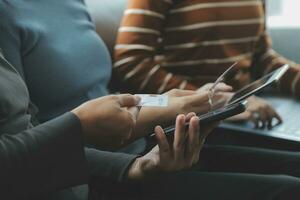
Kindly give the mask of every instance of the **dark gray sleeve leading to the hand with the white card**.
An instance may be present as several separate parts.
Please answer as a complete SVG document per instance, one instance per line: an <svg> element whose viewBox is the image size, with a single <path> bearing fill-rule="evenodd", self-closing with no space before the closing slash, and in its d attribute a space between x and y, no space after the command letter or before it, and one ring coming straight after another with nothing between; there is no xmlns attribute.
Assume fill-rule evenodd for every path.
<svg viewBox="0 0 300 200"><path fill-rule="evenodd" d="M67 113L19 134L2 134L0 177L4 199L28 199L87 183L77 117Z"/></svg>

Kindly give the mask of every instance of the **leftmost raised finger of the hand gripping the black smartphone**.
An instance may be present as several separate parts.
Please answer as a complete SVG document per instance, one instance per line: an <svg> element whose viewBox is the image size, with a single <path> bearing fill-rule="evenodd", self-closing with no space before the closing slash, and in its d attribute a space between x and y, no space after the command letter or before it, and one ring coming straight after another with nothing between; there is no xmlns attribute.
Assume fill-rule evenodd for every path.
<svg viewBox="0 0 300 200"><path fill-rule="evenodd" d="M159 155L163 159L170 155L170 146L167 137L160 126L156 126L154 131L155 131L157 144L159 147Z"/></svg>

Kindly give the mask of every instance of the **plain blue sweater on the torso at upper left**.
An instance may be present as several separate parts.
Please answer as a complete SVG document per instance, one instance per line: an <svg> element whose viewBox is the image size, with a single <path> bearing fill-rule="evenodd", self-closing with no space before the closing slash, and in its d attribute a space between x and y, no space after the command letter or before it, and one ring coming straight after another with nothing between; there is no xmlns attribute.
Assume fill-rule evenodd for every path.
<svg viewBox="0 0 300 200"><path fill-rule="evenodd" d="M111 58L83 0L0 1L0 47L40 121L107 94Z"/></svg>

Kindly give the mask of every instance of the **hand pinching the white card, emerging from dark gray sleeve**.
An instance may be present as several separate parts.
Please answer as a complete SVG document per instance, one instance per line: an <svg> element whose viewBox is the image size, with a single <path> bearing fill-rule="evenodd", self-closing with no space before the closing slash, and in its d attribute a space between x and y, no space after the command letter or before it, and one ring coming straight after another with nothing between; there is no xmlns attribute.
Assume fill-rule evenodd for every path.
<svg viewBox="0 0 300 200"><path fill-rule="evenodd" d="M88 143L118 148L132 137L139 101L130 94L111 95L88 101L72 112L80 119Z"/></svg>

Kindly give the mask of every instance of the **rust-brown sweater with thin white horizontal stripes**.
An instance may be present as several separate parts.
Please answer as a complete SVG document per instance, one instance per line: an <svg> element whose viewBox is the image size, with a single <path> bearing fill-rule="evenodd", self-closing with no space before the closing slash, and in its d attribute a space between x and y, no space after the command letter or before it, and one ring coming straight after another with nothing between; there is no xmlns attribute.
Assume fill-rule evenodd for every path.
<svg viewBox="0 0 300 200"><path fill-rule="evenodd" d="M135 92L197 89L236 61L236 89L286 63L281 88L300 87L299 66L271 48L262 0L128 0L114 71Z"/></svg>

